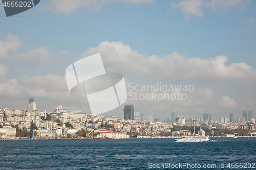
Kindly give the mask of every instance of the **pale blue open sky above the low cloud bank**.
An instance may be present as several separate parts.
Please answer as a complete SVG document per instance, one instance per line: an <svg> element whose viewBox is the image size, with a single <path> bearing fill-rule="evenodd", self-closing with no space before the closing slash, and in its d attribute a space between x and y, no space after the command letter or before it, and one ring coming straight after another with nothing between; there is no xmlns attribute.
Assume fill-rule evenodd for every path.
<svg viewBox="0 0 256 170"><path fill-rule="evenodd" d="M225 1L227 0L219 2ZM253 69L256 67L255 1L236 0L237 6L227 7L226 4L224 7L220 3L216 8L206 8L205 4L210 1L198 0L197 2L202 3L200 8L203 16L198 13L186 15L182 7L173 6L181 2L113 1L98 7L81 7L61 12L54 7L42 8L45 4L50 4L49 1L42 0L36 7L11 17L5 17L4 8L0 7L0 40L4 41L11 34L22 42L15 53L26 53L42 46L47 48L51 57L50 64L31 64L8 59L0 61L9 68L2 81L15 79L22 82L25 77L49 74L65 76L65 69L71 61L76 61L84 51L88 51L90 47L96 48L102 41L120 41L145 56L161 57L177 51L187 58L208 60L224 55L228 57L226 65L245 62ZM67 51L68 55L60 55L59 52L62 51ZM59 69L54 68L55 64ZM133 75L127 74L127 77ZM204 83L200 87L211 84L210 88L216 89L220 94L230 91L221 88L227 82L214 83L216 84ZM233 83L231 84L233 87ZM230 95L231 93L236 92L230 91Z"/></svg>

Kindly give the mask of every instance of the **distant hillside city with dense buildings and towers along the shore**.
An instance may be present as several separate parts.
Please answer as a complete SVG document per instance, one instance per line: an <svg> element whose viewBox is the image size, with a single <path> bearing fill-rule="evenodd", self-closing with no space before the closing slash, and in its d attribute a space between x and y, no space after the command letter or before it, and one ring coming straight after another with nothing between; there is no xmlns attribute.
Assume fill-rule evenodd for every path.
<svg viewBox="0 0 256 170"><path fill-rule="evenodd" d="M212 120L210 114L184 116L170 112L169 117L155 118L153 111L135 111L134 105L125 105L124 117L104 117L83 113L81 110L67 112L62 106L52 112L36 110L34 99L27 102L27 110L0 109L0 138L149 138L200 136L256 136L255 118L252 110L242 110L241 117ZM195 129L195 131L194 131ZM32 136L32 137L31 137Z"/></svg>

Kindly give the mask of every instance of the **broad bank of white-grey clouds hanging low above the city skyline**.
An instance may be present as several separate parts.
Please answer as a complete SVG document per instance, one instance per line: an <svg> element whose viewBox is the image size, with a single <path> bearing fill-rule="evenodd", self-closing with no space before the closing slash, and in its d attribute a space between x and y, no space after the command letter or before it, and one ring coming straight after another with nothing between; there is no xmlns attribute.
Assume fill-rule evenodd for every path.
<svg viewBox="0 0 256 170"><path fill-rule="evenodd" d="M154 111L154 117L161 117L170 111L175 111L177 114L184 114L185 116L196 116L203 113L215 116L214 114L220 115L223 112L234 112L247 106L248 101L241 102L241 95L243 97L246 95L243 91L244 87L252 89L251 93L254 93L254 86L249 87L248 82L255 80L255 69L243 62L227 65L226 56L217 56L211 59L187 58L178 52L173 52L166 56L146 56L132 50L130 45L123 44L122 42L103 41L97 47L92 47L85 51L80 58L96 53L101 54L106 71L120 72L126 78L126 83L129 81L133 83L142 81L144 84L147 84L147 80L151 80L154 83L157 81L163 83L165 81L169 84L175 84L174 82L178 81L182 81L182 83L187 81L187 84L197 82L195 91L182 92L178 89L177 91L170 92L177 93L179 91L186 93L187 100L185 101L126 101L125 104L134 104L138 111L145 110L145 108L147 109L150 106L148 109ZM39 47L31 52L17 56L23 56L20 58L29 61L33 60L33 56L38 54L44 54L42 57L35 58L41 61L46 60L44 56L49 56L45 47ZM60 54L65 55L66 52L60 52ZM64 63L63 65L72 63L71 61L67 62L69 63ZM0 64L0 71L1 68L7 69L5 65L1 66ZM62 72L64 74L65 68L63 68ZM130 78L128 78L129 76ZM142 79L138 80L141 77ZM82 109L84 112L90 112L86 99L77 98L69 94L65 76L46 75L29 77L28 75L20 79L22 80L11 79L0 83L2 106L12 107L13 109L14 107L26 109L27 99L35 98L39 110L51 109L62 105L69 109L69 111ZM229 86L226 83L232 81L243 83L237 85L237 87L232 86L236 90L236 96L228 93ZM223 82L222 86L217 87L217 82ZM220 90L220 88L223 89ZM161 91L156 93L161 93ZM231 95L233 99L229 97ZM254 99L248 100L250 100L249 102L255 102ZM110 111L109 114L122 116L122 109L123 106L118 107ZM250 107L248 109L254 108Z"/></svg>

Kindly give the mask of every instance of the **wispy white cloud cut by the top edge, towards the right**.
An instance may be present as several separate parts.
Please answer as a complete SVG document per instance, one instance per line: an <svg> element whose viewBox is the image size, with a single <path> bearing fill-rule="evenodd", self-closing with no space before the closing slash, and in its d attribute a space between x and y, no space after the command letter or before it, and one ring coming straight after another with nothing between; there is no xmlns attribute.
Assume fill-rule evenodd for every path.
<svg viewBox="0 0 256 170"><path fill-rule="evenodd" d="M211 8L217 13L223 13L232 8L245 9L250 2L247 0L182 0L178 4L172 4L172 7L181 8L181 12L188 19L190 15L203 17L203 9Z"/></svg>

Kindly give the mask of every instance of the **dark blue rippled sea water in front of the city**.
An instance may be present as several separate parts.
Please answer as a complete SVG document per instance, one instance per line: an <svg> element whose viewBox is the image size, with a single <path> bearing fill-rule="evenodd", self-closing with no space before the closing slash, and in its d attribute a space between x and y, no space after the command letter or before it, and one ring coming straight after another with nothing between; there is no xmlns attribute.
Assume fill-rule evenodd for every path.
<svg viewBox="0 0 256 170"><path fill-rule="evenodd" d="M228 163L256 163L255 155L256 138L252 137L211 138L210 142L175 142L171 138L0 141L1 169L167 169L150 168L149 163L152 167L216 164L216 168L206 169L231 169Z"/></svg>

